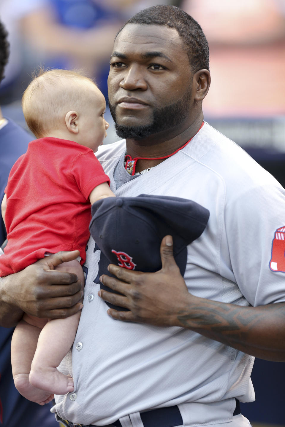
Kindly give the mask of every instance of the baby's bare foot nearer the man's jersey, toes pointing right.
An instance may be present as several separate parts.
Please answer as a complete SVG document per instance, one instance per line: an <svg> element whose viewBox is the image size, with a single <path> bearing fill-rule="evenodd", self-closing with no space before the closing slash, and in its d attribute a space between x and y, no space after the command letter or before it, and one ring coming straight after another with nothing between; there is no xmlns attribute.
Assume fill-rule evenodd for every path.
<svg viewBox="0 0 285 427"><path fill-rule="evenodd" d="M29 382L41 390L55 395L66 395L74 391L73 378L71 375L64 375L56 368L31 369Z"/></svg>

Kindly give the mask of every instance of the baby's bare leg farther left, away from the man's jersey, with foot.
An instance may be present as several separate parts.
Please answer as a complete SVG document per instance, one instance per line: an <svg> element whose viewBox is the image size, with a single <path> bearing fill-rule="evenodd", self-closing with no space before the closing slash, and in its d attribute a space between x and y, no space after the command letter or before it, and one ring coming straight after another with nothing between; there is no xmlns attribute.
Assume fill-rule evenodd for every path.
<svg viewBox="0 0 285 427"><path fill-rule="evenodd" d="M38 319L24 314L23 320L15 328L11 343L11 363L15 387L26 399L40 405L51 401L53 394L33 387L29 383L29 371L38 336L46 323L47 319Z"/></svg>

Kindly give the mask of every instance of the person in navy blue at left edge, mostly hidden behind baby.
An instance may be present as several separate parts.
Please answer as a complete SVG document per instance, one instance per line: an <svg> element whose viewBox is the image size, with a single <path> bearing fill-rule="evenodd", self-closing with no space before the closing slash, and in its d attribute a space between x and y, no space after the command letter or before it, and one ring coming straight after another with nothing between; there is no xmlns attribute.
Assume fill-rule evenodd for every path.
<svg viewBox="0 0 285 427"><path fill-rule="evenodd" d="M7 32L0 22L0 80L8 61ZM0 198L4 196L8 175L15 161L26 152L34 139L12 120L3 117L0 109ZM6 229L0 219L0 245L6 239ZM23 398L15 389L11 369L10 347L14 328L0 327L0 426L56 427L59 424L50 413L51 404L44 407Z"/></svg>

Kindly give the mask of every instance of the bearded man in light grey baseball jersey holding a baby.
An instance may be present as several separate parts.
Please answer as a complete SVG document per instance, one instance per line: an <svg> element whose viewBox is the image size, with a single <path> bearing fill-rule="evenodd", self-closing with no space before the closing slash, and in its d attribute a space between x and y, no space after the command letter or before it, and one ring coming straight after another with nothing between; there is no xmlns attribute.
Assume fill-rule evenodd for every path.
<svg viewBox="0 0 285 427"><path fill-rule="evenodd" d="M155 273L115 265L108 273L89 240L72 361L69 354L60 366L72 372L75 391L57 397L53 411L67 426L248 426L239 401L254 400L252 356L285 360L285 281L275 245L284 190L203 123L209 51L185 12L153 6L131 18L115 40L108 83L116 129L126 137L98 155L111 189L191 199L210 218L188 246L184 278L171 236ZM76 256L51 255L2 278L3 325L23 311L54 318L79 310L78 281L53 270ZM119 293L99 290L100 281Z"/></svg>

